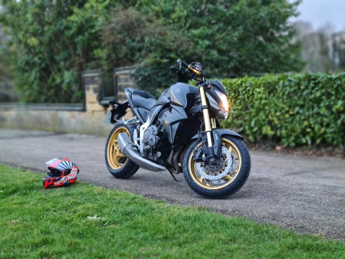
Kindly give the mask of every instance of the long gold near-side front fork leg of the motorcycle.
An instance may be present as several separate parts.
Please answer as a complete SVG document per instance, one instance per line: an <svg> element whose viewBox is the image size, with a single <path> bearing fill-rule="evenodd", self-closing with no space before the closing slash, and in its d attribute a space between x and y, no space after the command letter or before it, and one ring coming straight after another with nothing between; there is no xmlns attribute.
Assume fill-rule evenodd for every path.
<svg viewBox="0 0 345 259"><path fill-rule="evenodd" d="M202 115L204 116L204 124L205 124L205 132L207 138L207 149L208 155L210 156L210 164L215 164L215 152L213 151L213 144L212 144L212 127L211 127L211 120L210 114L208 113L208 104L206 100L206 93L204 86L199 88L200 97L201 97L201 109Z"/></svg>

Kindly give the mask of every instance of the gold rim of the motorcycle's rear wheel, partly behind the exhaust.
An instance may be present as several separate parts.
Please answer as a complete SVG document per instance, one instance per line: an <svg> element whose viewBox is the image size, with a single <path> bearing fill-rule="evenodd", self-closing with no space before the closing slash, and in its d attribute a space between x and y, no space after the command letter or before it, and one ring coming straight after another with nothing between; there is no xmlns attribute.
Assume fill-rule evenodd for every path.
<svg viewBox="0 0 345 259"><path fill-rule="evenodd" d="M130 136L127 128L119 127L112 133L110 137L107 148L108 163L112 169L115 170L121 169L128 161L127 157L121 153L119 143L117 143L117 135L119 135L119 133L127 133L128 136ZM126 160L120 162L121 158L125 158Z"/></svg>

